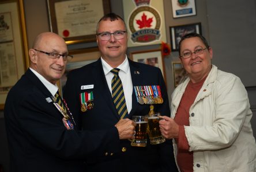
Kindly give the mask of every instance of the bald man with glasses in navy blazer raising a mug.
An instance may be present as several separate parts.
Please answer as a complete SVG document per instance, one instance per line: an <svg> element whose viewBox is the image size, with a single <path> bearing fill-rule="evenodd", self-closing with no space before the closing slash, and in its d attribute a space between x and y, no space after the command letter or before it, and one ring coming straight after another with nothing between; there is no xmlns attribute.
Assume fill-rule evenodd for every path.
<svg viewBox="0 0 256 172"><path fill-rule="evenodd" d="M86 157L134 138L135 123L128 119L104 130L75 130L65 101L55 97L69 59L65 41L55 33L39 34L29 49L30 67L9 91L4 110L10 171L84 171Z"/></svg>

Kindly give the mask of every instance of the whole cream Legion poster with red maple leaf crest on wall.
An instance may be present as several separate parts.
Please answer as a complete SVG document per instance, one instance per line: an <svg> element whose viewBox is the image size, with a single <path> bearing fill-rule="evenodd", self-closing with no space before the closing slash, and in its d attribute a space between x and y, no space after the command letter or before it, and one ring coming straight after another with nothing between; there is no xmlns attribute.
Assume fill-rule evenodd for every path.
<svg viewBox="0 0 256 172"><path fill-rule="evenodd" d="M123 0L128 46L166 42L163 0Z"/></svg>

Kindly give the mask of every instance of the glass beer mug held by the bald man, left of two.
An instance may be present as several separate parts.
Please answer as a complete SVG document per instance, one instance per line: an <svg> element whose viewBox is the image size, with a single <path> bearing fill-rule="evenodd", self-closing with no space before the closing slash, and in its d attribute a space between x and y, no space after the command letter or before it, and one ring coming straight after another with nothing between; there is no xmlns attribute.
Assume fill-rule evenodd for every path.
<svg viewBox="0 0 256 172"><path fill-rule="evenodd" d="M148 116L132 116L132 120L136 123L135 139L131 140L131 146L146 146Z"/></svg>

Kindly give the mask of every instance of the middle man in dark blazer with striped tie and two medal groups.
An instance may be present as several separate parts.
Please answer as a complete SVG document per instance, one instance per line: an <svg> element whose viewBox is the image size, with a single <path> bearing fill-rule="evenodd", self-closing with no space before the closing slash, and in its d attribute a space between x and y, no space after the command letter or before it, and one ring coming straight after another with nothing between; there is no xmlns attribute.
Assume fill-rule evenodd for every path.
<svg viewBox="0 0 256 172"><path fill-rule="evenodd" d="M161 104L154 105L154 111L170 116L167 90L160 69L131 61L126 56L128 37L123 19L114 13L107 14L98 22L96 32L101 57L71 71L64 91L65 100L79 122L78 127L90 131L107 130L122 118L112 99L111 80L114 74L111 70L114 68L120 69L118 75L128 111L126 119L149 114L150 104L139 104L136 93L142 93L141 88L152 87L157 88L155 93L163 99ZM146 147L133 147L130 140L121 140L119 145L113 145L105 154L86 157L85 166L85 171L177 170L170 140L157 145L151 145L148 140Z"/></svg>

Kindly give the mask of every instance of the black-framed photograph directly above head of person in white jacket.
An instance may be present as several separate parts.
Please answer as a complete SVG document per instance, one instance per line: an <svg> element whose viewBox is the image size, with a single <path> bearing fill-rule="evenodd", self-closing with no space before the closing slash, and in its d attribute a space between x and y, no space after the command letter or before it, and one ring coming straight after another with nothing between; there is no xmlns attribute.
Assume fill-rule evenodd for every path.
<svg viewBox="0 0 256 172"><path fill-rule="evenodd" d="M201 23L171 26L170 36L171 36L171 49L172 51L178 51L179 41L185 34L188 33L198 33L202 34Z"/></svg>

